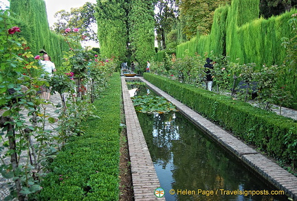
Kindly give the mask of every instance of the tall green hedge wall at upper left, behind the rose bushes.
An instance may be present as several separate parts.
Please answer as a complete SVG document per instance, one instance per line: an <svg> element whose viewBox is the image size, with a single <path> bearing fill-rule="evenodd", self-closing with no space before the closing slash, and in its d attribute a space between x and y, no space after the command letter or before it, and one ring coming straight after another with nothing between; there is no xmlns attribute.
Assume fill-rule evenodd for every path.
<svg viewBox="0 0 297 201"><path fill-rule="evenodd" d="M40 49L45 49L56 66L61 65L62 53L69 47L63 36L50 31L45 1L11 0L10 10L21 28L20 35L28 41L32 54L39 54Z"/></svg>

